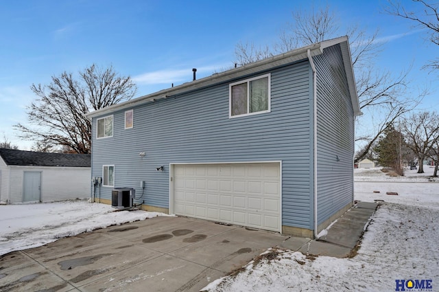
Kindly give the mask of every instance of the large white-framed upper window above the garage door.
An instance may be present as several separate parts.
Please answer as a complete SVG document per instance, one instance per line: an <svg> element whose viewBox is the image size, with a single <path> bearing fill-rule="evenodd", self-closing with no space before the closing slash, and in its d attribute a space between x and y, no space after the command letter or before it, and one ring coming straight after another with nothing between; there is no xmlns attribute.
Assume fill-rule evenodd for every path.
<svg viewBox="0 0 439 292"><path fill-rule="evenodd" d="M229 85L229 117L270 112L270 74Z"/></svg>

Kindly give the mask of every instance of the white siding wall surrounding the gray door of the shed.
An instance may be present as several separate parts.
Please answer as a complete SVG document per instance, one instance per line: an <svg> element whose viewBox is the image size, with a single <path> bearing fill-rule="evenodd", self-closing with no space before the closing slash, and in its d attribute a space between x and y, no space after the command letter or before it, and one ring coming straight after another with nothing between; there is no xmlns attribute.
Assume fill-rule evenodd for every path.
<svg viewBox="0 0 439 292"><path fill-rule="evenodd" d="M41 172L42 202L90 197L90 168L11 166L10 203L23 201L23 173L25 171Z"/></svg>

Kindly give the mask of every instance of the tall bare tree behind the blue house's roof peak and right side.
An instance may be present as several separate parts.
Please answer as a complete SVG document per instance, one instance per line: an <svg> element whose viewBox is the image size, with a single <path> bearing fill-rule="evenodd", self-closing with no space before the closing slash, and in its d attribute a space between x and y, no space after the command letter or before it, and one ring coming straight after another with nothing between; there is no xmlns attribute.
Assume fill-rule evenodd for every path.
<svg viewBox="0 0 439 292"><path fill-rule="evenodd" d="M280 41L274 45L276 54L333 38L340 31L336 21L339 18L330 11L328 5L317 10L313 8L311 12L298 10L293 12L292 16L293 23L287 25L287 28L281 32ZM364 113L361 117L357 117L356 124L361 126L362 123L369 128L370 124L366 125L366 121L371 120L372 115L373 120L378 121L373 125L372 133L355 138L357 142L364 144L361 148L363 151L355 156L357 162L368 155L372 145L377 142L388 125L403 113L414 109L425 93L420 93L416 98L402 98L407 90L407 73L392 76L388 71L376 69L370 62L381 51L382 44L377 42L378 32L368 35L357 26L353 26L345 34L351 42L359 105ZM245 64L269 55L268 47L259 50L255 49L255 46L250 49L242 45L237 47L239 49L235 50L235 54L240 65L243 63L242 60Z"/></svg>

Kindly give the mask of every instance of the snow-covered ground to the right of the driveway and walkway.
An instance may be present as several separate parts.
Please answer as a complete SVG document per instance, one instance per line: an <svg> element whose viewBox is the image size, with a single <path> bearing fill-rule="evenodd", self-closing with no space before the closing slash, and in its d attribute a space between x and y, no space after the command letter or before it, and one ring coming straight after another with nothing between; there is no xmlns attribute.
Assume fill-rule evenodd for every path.
<svg viewBox="0 0 439 292"><path fill-rule="evenodd" d="M433 170L427 166L425 171L407 170L401 178L379 168L355 170L355 199L384 202L354 258L271 249L205 290L395 291L396 280L431 280L431 289L423 282L425 289L405 291L439 291L439 183L428 183ZM398 196L385 194L395 191Z"/></svg>

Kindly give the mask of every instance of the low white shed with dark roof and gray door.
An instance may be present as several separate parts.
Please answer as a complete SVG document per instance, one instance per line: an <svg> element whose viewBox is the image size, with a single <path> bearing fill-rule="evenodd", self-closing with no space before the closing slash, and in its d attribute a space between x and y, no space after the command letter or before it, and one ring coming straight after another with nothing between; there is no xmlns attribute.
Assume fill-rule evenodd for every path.
<svg viewBox="0 0 439 292"><path fill-rule="evenodd" d="M90 197L91 155L0 148L0 201L51 202Z"/></svg>

